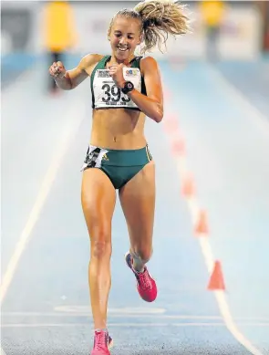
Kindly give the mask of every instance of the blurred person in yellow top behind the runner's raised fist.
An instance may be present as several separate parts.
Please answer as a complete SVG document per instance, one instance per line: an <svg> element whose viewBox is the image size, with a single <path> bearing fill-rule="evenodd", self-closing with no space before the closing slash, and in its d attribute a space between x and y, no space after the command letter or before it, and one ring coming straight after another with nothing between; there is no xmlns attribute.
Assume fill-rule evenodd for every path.
<svg viewBox="0 0 269 355"><path fill-rule="evenodd" d="M49 1L44 13L45 46L48 52L48 65L62 61L67 50L76 44L76 29L72 7L68 1ZM49 91L56 92L57 85L50 76Z"/></svg>

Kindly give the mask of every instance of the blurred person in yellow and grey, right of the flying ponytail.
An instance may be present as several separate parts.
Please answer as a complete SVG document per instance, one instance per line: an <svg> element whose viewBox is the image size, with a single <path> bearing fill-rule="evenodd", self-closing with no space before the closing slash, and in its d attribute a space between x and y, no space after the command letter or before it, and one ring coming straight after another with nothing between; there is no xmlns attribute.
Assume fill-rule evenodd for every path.
<svg viewBox="0 0 269 355"><path fill-rule="evenodd" d="M222 1L202 1L200 6L207 38L206 54L209 60L214 61L219 57L218 41L224 16L224 4Z"/></svg>

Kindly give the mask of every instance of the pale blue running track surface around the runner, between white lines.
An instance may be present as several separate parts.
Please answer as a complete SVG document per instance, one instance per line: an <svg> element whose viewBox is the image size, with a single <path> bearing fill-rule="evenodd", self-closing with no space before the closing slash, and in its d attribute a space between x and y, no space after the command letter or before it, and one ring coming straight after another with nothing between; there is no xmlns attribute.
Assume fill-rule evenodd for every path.
<svg viewBox="0 0 269 355"><path fill-rule="evenodd" d="M187 142L198 199L209 214L212 250L222 260L233 320L253 346L269 354L269 124L260 124L264 119L246 110L225 84L232 81L248 102L265 108L269 119L265 99L253 97L253 91L269 89L269 80L253 66L256 90L243 89L240 70L232 67L222 65L219 71L191 63L173 72L168 63L160 63L164 85L172 91L167 110L177 114ZM44 189L44 177L57 151L66 148L52 169L55 180L5 293L1 331L7 355L82 355L92 346L89 243L80 207L80 166L91 123L89 81L50 98L40 87L45 75L36 67L2 95L2 277ZM157 164L149 268L159 297L146 304L136 292L124 262L129 241L117 204L109 298L109 329L116 344L112 354L249 354L225 327L216 298L206 289L209 274L162 124L149 120L146 133Z"/></svg>

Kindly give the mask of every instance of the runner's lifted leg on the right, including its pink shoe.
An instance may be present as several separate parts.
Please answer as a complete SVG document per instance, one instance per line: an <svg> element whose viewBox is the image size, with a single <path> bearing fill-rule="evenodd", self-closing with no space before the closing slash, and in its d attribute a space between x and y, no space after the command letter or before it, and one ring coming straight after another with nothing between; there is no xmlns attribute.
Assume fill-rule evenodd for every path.
<svg viewBox="0 0 269 355"><path fill-rule="evenodd" d="M144 166L119 190L119 200L129 230L130 249L126 262L138 281L140 297L152 302L157 287L146 263L152 255L152 235L155 212L155 164Z"/></svg>

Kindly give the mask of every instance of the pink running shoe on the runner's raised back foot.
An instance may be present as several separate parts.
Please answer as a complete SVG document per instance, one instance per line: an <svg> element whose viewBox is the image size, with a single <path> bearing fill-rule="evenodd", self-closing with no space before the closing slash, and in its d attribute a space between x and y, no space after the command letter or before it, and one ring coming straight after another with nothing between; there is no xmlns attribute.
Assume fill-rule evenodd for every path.
<svg viewBox="0 0 269 355"><path fill-rule="evenodd" d="M132 267L132 256L129 252L125 255L125 261L137 278L137 288L140 297L146 302L153 302L157 298L157 286L155 280L150 276L148 268L145 266L142 273L134 270Z"/></svg>

